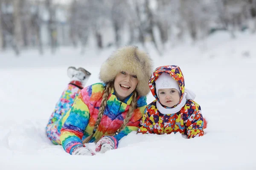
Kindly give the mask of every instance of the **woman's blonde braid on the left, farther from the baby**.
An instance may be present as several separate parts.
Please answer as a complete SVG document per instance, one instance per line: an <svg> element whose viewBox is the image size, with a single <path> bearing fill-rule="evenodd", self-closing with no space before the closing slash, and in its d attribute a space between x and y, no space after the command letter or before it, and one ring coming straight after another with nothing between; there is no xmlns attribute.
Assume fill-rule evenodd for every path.
<svg viewBox="0 0 256 170"><path fill-rule="evenodd" d="M94 124L94 127L93 127L93 133L90 136L88 136L87 138L84 139L83 144L88 143L92 139L96 130L98 129L99 123L102 119L103 113L105 111L105 107L107 105L108 96L109 96L109 94L111 94L111 90L112 90L112 83L108 83L108 85L105 88L104 94L102 96L102 101L101 101L101 105L100 105L100 108L99 108L98 117L97 117L97 120L96 120L96 122Z"/></svg>

